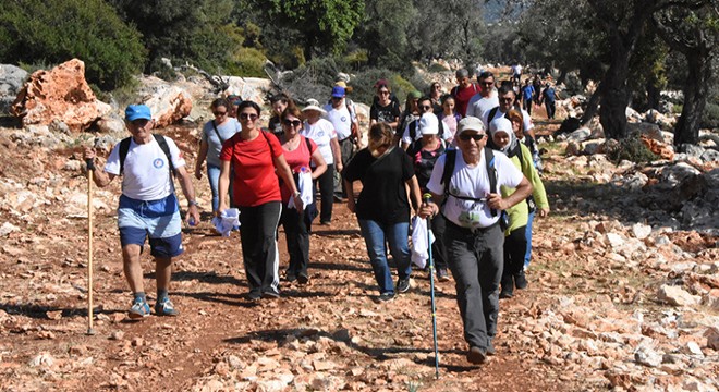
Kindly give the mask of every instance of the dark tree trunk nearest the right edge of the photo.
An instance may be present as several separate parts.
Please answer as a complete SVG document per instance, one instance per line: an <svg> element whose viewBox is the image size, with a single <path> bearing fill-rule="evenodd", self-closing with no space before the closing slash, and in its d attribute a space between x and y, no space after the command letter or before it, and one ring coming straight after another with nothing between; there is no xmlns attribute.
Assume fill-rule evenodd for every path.
<svg viewBox="0 0 719 392"><path fill-rule="evenodd" d="M702 48L704 49L704 48ZM674 145L696 144L699 139L699 123L707 103L707 91L711 78L711 61L702 49L685 51L687 71L684 84L684 107L674 128Z"/></svg>

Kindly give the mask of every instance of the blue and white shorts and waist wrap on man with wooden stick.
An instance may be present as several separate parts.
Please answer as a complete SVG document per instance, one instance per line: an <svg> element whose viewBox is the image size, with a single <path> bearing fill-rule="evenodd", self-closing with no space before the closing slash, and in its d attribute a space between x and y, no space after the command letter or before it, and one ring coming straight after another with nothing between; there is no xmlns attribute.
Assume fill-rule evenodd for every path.
<svg viewBox="0 0 719 392"><path fill-rule="evenodd" d="M118 207L120 244L145 245L149 237L150 254L169 258L182 255L182 220L174 194L160 200L135 200L120 196Z"/></svg>

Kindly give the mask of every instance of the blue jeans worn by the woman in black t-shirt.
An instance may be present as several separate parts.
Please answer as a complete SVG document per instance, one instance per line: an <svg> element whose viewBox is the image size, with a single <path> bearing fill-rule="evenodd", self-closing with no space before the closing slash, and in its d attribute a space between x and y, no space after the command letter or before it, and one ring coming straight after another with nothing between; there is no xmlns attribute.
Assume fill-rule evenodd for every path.
<svg viewBox="0 0 719 392"><path fill-rule="evenodd" d="M392 272L387 264L387 246L389 243L390 254L397 264L397 273L400 279L407 279L412 274L410 264L410 223L401 222L393 224L381 224L369 219L360 219L362 236L367 245L367 255L375 272L375 279L379 285L379 293L394 293Z"/></svg>

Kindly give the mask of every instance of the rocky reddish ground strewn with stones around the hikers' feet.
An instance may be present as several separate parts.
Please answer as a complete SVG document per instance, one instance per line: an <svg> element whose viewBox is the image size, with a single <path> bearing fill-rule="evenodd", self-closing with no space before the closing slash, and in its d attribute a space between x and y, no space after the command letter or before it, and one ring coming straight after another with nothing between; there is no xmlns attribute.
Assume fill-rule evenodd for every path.
<svg viewBox="0 0 719 392"><path fill-rule="evenodd" d="M558 127L538 125L544 135ZM194 168L195 126L162 133L180 142ZM99 145L119 137L102 135ZM483 366L465 360L453 283L439 283L435 379L427 274L415 272L409 293L376 303L365 245L344 204L334 206L330 226L314 228L310 285L283 282L279 301L246 299L239 235L219 237L205 221L185 230L186 253L175 265L171 295L181 316L130 322L119 184L96 191L95 334L87 335L80 151L89 138L0 130L0 390L719 388L716 162L616 166L604 155L565 158L566 143L543 145L552 213L535 221L528 289L501 302L498 355ZM686 176L667 169L677 164L704 186L681 194ZM207 210L209 188L195 184ZM665 208L672 197L680 205ZM154 293L147 255L144 267Z"/></svg>

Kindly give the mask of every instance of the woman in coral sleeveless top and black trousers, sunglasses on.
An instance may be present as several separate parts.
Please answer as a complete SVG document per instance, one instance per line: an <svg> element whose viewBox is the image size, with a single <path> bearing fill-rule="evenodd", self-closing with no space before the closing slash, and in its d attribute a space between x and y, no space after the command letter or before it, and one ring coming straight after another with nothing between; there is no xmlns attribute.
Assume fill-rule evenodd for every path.
<svg viewBox="0 0 719 392"><path fill-rule="evenodd" d="M292 174L294 175L297 185L304 184L307 189L301 188L301 193L307 193L312 204L305 206L304 212L297 211L295 208L283 208L280 223L284 226L284 236L288 243L288 253L290 254L290 266L288 267L285 278L289 282L297 281L301 284L306 284L309 281L307 274L307 265L309 264L309 231L312 221L317 215L315 208L315 195L313 194L312 180L316 180L327 170L327 163L322 158L321 152L315 142L306 138L300 134L303 126L302 111L295 106L289 106L280 115L282 122L283 136L282 151ZM315 170L309 168L309 161L315 164ZM305 174L306 173L306 174ZM312 177L308 182L302 182L300 175L307 175ZM301 186L302 187L302 186ZM280 192L282 193L282 205L288 206L292 191L290 187L281 183Z"/></svg>

